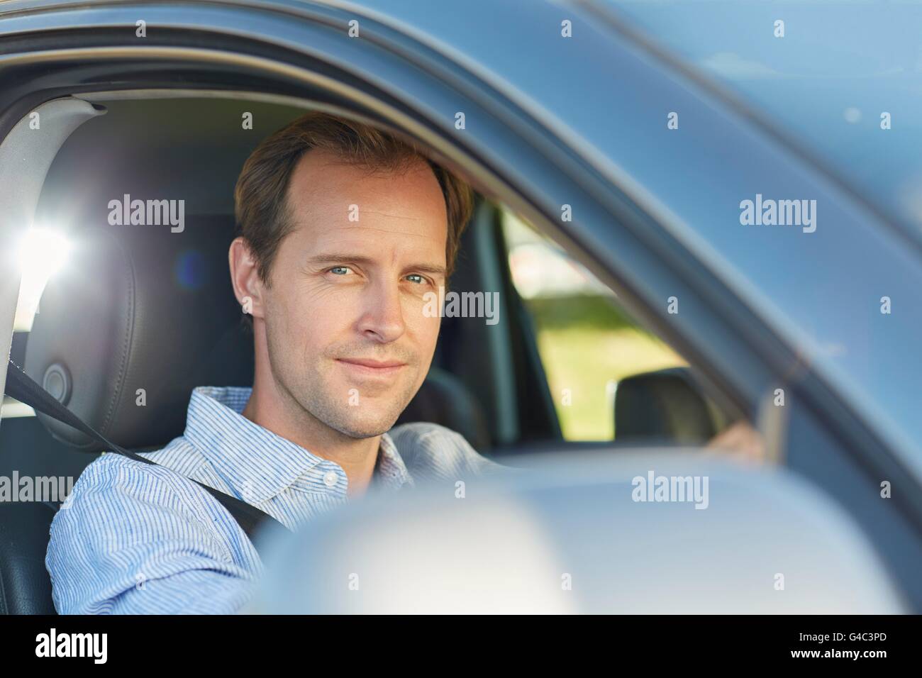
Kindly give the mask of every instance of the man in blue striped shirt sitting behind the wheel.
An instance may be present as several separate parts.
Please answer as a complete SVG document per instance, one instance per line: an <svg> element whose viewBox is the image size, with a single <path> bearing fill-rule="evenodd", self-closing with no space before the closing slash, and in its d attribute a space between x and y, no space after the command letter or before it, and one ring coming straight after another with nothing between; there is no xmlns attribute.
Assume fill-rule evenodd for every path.
<svg viewBox="0 0 922 678"><path fill-rule="evenodd" d="M311 113L267 138L235 193L231 281L252 318L254 386L198 387L149 466L107 454L52 524L59 613L232 613L261 563L193 480L294 528L374 485L502 467L442 426L391 427L422 384L470 189L370 127ZM191 479L191 480L190 480Z"/></svg>

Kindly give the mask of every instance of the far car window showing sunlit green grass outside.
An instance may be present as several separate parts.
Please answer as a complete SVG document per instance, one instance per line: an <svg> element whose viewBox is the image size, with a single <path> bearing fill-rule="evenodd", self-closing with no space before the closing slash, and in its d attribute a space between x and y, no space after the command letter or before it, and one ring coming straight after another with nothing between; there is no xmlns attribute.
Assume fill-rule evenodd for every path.
<svg viewBox="0 0 922 678"><path fill-rule="evenodd" d="M613 291L526 221L502 211L502 233L563 437L617 437L619 382L687 363L632 320Z"/></svg>

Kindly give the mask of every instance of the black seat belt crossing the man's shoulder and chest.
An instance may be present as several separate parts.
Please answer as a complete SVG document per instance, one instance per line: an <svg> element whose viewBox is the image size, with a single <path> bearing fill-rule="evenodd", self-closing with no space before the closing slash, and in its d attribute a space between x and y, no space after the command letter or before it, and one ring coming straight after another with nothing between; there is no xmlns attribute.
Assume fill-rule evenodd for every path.
<svg viewBox="0 0 922 678"><path fill-rule="evenodd" d="M104 446L107 451L114 452L115 454L122 455L129 459L134 459L135 461L140 461L144 464L150 464L151 466L160 466L160 464L148 458L141 457L134 452L124 449L124 447L115 445L115 443L106 438L106 436L100 434L99 431L77 417L74 412L65 408L65 406L57 398L54 398L52 394L35 383L24 370L20 369L19 366L12 361L12 359L6 371L6 395L29 405L33 410L47 414L49 417L59 422L64 422L68 426L76 428L77 431L82 431L93 438L93 440L100 443L100 445ZM192 479L190 478L188 480ZM228 512L234 517L243 531L246 532L246 536L249 537L251 541L253 540L256 529L261 526L273 523L279 526L281 525L274 517L269 516L264 511L260 511L255 506L250 506L246 502L232 497L230 494L224 494L213 487L208 487L203 482L192 482L202 487L208 494L211 494L211 496L217 499L221 506L228 509Z"/></svg>

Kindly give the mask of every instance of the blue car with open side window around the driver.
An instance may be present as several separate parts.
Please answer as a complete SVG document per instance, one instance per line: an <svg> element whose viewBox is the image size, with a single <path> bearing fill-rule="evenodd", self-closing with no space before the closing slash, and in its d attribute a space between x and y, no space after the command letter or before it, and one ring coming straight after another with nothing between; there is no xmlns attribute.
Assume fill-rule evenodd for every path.
<svg viewBox="0 0 922 678"><path fill-rule="evenodd" d="M706 16L720 27L726 6L717 6ZM774 38L766 11L733 10L767 30L765 41L786 40ZM810 117L820 109L809 105L798 108L810 121L805 141L797 115L785 113L790 80L781 72L762 77L765 89L740 85L740 72L745 80L762 71L739 35L739 54L704 58L680 18L689 20L603 0L0 3L8 369L22 366L131 450L182 434L193 387L251 383L252 345L226 269L233 185L260 139L305 111L336 113L412 140L478 194L452 286L496 294L497 322L444 318L431 374L402 422L442 423L503 464L540 467L538 485L511 491L516 506L534 510L547 497L561 515L585 520L590 540L637 538L641 524L674 538L676 524L689 526L673 511L638 510L647 505L632 499L634 480L647 471L651 485L674 469L670 478L751 489L692 509L714 516L688 527L713 549L668 577L632 570L641 594L667 580L691 591L718 554L772 546L810 577L848 567L828 590L768 604L784 587L766 565L757 582L734 589L730 608L715 609L842 611L835 601L850 590L856 602L846 611L922 612L914 203L897 202L885 182L863 184L862 164L873 163L862 158L873 154L833 153L836 137L822 136ZM716 41L719 31L704 34ZM809 52L802 34L789 42ZM810 77L825 82L823 73L791 78L798 94ZM132 223L135 201L148 223ZM767 201L783 203L783 218ZM747 220L757 203L762 219ZM762 464L745 472L703 454L739 422L762 440ZM0 477L74 479L103 447L4 402ZM570 465L579 477L562 483L556 470ZM747 497L762 492L771 501L758 506L777 515L752 510ZM54 612L44 555L62 498L0 502L0 612ZM429 501L419 506L443 507ZM509 506L481 508L502 516ZM443 508L431 515L459 510ZM406 517L402 509L382 511ZM318 523L313 539L346 539L368 510ZM420 525L427 514L410 515L404 536L438 530ZM525 529L517 515L502 525ZM612 515L640 522L609 523ZM745 529L734 517L745 517ZM548 534L564 529L535 519ZM477 523L465 525L476 539ZM278 548L299 548L289 543ZM555 543L604 558L585 542ZM372 563L385 555L363 553ZM268 583L289 576L282 568ZM594 576L605 581L604 571ZM599 596L586 609L636 612L650 600ZM262 609L290 611L290 601L274 606L282 599L267 593ZM298 612L347 605L316 591L290 600L303 603ZM490 609L477 600L474 609ZM710 610L677 594L649 609L702 606Z"/></svg>

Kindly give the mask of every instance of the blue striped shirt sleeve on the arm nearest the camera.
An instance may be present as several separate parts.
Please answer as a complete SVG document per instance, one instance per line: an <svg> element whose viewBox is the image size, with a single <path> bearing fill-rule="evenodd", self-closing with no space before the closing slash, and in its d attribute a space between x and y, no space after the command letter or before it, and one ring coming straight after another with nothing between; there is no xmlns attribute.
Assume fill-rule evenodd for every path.
<svg viewBox="0 0 922 678"><path fill-rule="evenodd" d="M58 613L202 614L239 611L262 565L195 483L109 454L55 515L45 566Z"/></svg>

